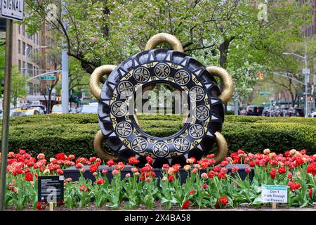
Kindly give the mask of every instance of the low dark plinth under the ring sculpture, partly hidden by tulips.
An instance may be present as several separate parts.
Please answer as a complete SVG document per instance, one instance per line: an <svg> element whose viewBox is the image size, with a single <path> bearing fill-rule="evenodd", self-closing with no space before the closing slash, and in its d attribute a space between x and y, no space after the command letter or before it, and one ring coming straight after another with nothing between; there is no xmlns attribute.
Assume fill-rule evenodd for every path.
<svg viewBox="0 0 316 225"><path fill-rule="evenodd" d="M231 164L231 165L227 165L227 169L228 169L228 174L230 174L232 167L237 166L238 169L238 173L239 176L241 177L242 180L244 180L246 178L247 173L245 172L246 168L250 168L251 172L249 172L249 178L252 180L254 177L254 169L252 167L249 167L249 165L246 164ZM96 178L92 175L92 173L90 172L90 166L84 166L84 169L86 169L86 172L84 173L84 178L86 179L91 179L91 181L95 181ZM111 181L112 179L112 171L114 170L114 167L108 167L108 166L104 166L101 165L98 170L100 172L102 172L103 169L107 169L107 179L109 179L109 181ZM67 169L63 170L64 172L64 176L65 179L67 178L72 178L72 181L78 181L79 177L80 177L80 172L79 169L76 169L75 167L69 167ZM180 176L181 176L181 182L185 183L185 179L187 178L187 172L185 172L185 170L183 168L179 169L180 172ZM206 169L201 169L200 170L200 174L202 174L203 172L206 172ZM126 167L121 171L121 177L124 178L126 174L133 174L131 172L131 166L126 165ZM154 169L154 173L156 174L156 177L162 178L163 174L162 174L162 169ZM234 176L234 175L232 175Z"/></svg>

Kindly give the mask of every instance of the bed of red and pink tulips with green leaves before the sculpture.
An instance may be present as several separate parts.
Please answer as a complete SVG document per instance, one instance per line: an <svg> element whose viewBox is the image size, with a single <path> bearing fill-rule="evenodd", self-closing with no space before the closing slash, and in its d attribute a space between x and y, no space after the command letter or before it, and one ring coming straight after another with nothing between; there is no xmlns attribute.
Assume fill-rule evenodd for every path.
<svg viewBox="0 0 316 225"><path fill-rule="evenodd" d="M107 179L107 170L98 167L106 163L113 167L113 179ZM214 165L213 154L196 161L187 159L183 167L188 173L181 184L180 165L164 165L164 176L158 178L152 171L152 158L147 158L145 167L138 168L138 159L130 158L131 172L121 179L123 162L112 160L102 162L99 158L75 158L74 155L58 153L55 158L46 160L44 154L36 158L20 150L8 153L6 207L8 210L48 210L46 203L37 202L37 178L42 175L63 174L62 169L77 167L81 172L79 181L65 179L65 201L58 202L60 210L130 210L146 208L178 210L190 208L235 208L267 207L261 203L261 184L286 185L288 203L285 207L313 207L316 192L316 155L306 155L306 150L288 150L284 154L244 153L243 150L231 153L219 165ZM228 174L229 164L245 163L254 167L254 178L242 180L237 173L238 167ZM84 179L84 165L90 165L90 172L96 181ZM206 172L200 172L206 169ZM250 172L251 169L246 169ZM284 206L284 205L283 205Z"/></svg>

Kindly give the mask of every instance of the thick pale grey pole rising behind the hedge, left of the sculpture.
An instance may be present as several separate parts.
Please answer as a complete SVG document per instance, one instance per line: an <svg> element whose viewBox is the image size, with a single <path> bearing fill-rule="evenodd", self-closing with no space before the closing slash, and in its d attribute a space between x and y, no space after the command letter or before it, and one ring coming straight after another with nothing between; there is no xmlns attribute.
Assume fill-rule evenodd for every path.
<svg viewBox="0 0 316 225"><path fill-rule="evenodd" d="M65 2L62 1L62 6L65 6ZM62 15L65 15L65 7L62 8ZM63 25L67 30L67 20L64 19ZM62 113L69 113L69 85L68 85L68 55L67 44L65 40L62 41Z"/></svg>

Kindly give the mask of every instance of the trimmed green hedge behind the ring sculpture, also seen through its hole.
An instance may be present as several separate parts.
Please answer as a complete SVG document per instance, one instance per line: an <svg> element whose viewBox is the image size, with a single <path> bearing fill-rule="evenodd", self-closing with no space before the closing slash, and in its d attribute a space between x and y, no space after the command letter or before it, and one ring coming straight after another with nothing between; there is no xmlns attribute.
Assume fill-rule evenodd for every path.
<svg viewBox="0 0 316 225"><path fill-rule="evenodd" d="M138 116L142 129L152 136L170 136L183 127L181 116ZM37 115L12 117L10 150L26 149L44 153L48 158L56 153L82 157L96 155L93 137L99 129L96 114ZM226 115L223 135L230 151L261 152L270 148L279 153L305 148L316 153L316 120L302 117L251 117Z"/></svg>

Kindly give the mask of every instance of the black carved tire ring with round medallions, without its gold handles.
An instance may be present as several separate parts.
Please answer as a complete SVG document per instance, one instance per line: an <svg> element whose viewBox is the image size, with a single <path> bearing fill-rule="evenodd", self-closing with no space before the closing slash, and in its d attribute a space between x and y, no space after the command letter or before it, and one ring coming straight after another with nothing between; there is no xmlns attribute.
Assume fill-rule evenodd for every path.
<svg viewBox="0 0 316 225"><path fill-rule="evenodd" d="M185 91L192 106L184 127L164 138L146 134L134 113L129 113L140 87L158 83ZM154 167L183 165L187 158L202 158L215 143L215 133L221 131L224 120L219 95L213 75L191 56L166 49L143 51L125 60L107 77L99 98L100 128L109 151L121 160L136 156L144 165L150 156Z"/></svg>

